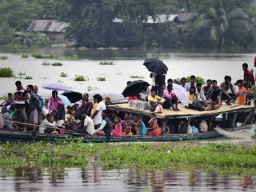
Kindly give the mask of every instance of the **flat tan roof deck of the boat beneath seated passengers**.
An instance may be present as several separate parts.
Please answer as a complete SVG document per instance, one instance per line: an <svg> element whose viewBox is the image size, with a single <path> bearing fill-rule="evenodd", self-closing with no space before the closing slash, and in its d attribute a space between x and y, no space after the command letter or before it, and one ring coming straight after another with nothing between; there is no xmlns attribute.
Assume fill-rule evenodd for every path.
<svg viewBox="0 0 256 192"><path fill-rule="evenodd" d="M218 115L223 113L235 113L239 111L250 111L254 110L254 106L245 106L245 105L234 105L234 106L222 106L218 110L210 110L210 111L198 111L198 110L190 110L185 108L185 106L178 105L180 111L174 110L166 110L163 109L162 114L156 114L157 118L187 118L187 117L198 117L198 116L207 116L207 115ZM141 114L149 116L152 114L150 110L140 110L134 107L128 106L128 103L116 104L107 106L108 110L117 110L127 113L133 114Z"/></svg>

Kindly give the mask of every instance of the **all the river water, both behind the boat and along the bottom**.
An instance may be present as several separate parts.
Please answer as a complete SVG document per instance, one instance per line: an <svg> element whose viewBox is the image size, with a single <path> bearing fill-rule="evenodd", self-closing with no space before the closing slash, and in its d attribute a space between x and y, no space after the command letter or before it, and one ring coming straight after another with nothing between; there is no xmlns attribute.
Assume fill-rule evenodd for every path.
<svg viewBox="0 0 256 192"><path fill-rule="evenodd" d="M44 53L74 54L74 50L54 49ZM46 83L60 82L80 92L110 94L122 99L126 82L134 80L130 75L144 77L150 82L149 72L142 65L145 58L159 57L169 67L166 78L182 78L194 74L202 78L216 79L219 83L229 74L233 82L242 78L242 63L253 68L254 54L174 53L168 50L86 50L78 51L77 61L21 58L19 53L0 53L8 56L0 60L0 67L11 67L16 76L25 72L32 80L1 78L0 96L14 92L14 82L22 80L24 86L37 85L39 93L50 96L50 90L42 89ZM113 66L101 66L102 60L114 61ZM42 66L42 62L62 62L63 66ZM60 73L68 74L61 78ZM75 82L74 76L82 74L86 82ZM98 82L98 77L106 78ZM94 88L94 90L90 90ZM229 141L227 141L229 142ZM242 142L244 143L244 142ZM246 144L247 145L247 144ZM199 170L152 171L106 170L90 164L86 168L57 169L37 167L0 167L0 191L255 191L256 176L209 174Z"/></svg>

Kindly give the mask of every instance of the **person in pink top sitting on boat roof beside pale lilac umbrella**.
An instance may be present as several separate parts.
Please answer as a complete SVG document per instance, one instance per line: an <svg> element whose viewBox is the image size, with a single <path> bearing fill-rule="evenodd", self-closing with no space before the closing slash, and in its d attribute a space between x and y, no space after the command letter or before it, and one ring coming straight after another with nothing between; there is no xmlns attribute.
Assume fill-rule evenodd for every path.
<svg viewBox="0 0 256 192"><path fill-rule="evenodd" d="M174 111L179 110L178 98L176 97L176 94L174 94L172 83L168 84L167 89L163 92L163 98L165 99L165 102L162 104L164 109L170 109L171 107Z"/></svg>

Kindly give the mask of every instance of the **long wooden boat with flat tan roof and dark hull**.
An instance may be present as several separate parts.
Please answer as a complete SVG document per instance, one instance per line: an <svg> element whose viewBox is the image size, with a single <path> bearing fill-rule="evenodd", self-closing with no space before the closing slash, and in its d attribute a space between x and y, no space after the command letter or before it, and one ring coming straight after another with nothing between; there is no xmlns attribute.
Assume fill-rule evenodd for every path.
<svg viewBox="0 0 256 192"><path fill-rule="evenodd" d="M172 142L172 141L186 141L193 139L210 139L210 138L223 138L222 134L218 134L212 128L213 119L216 118L219 114L232 114L232 122L230 122L230 128L226 130L235 131L235 130L245 130L250 129L251 125L254 123L254 106L222 106L218 110L213 111L196 111L189 110L179 106L181 111L173 110L163 110L162 114L157 114L157 118L162 121L162 130L166 129L166 124L170 119L177 118L187 118L188 123L191 118L198 117L210 117L209 127L210 130L206 133L198 134L163 134L161 136L152 137L152 136L122 136L122 137L113 137L110 139L110 142ZM107 106L107 109L114 111L115 113L131 113L131 114L140 114L150 116L151 112L149 110L138 110L136 108L131 108L127 104L116 104ZM241 113L246 113L246 118L242 123L241 127L235 127L236 118ZM21 132L5 131L0 130L0 142L55 142L55 141L64 141L70 140L72 138L81 138L82 142L106 142L105 137L83 137L81 134L26 134Z"/></svg>

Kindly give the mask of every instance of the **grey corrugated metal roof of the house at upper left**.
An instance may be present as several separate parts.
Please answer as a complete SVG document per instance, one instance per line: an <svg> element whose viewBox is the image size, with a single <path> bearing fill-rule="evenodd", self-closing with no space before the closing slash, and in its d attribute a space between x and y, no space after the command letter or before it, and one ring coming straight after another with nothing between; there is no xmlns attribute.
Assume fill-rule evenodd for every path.
<svg viewBox="0 0 256 192"><path fill-rule="evenodd" d="M26 31L30 32L65 32L68 22L58 22L56 20L35 20Z"/></svg>

